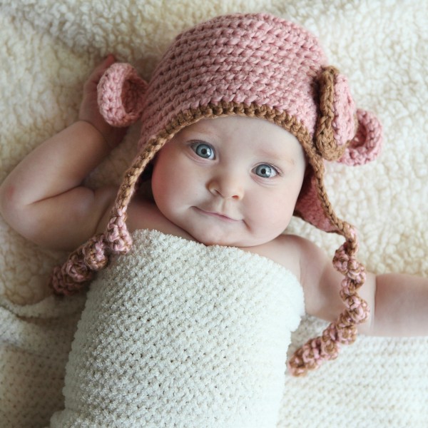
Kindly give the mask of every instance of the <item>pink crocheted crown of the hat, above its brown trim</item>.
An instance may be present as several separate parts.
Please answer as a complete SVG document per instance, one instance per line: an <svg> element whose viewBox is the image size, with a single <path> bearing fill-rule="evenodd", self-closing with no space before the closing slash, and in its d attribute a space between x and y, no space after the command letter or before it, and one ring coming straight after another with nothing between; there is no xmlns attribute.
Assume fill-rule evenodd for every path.
<svg viewBox="0 0 428 428"><path fill-rule="evenodd" d="M179 112L220 101L269 106L313 130L313 81L325 65L315 36L283 19L228 15L199 24L175 39L153 73L140 146Z"/></svg>

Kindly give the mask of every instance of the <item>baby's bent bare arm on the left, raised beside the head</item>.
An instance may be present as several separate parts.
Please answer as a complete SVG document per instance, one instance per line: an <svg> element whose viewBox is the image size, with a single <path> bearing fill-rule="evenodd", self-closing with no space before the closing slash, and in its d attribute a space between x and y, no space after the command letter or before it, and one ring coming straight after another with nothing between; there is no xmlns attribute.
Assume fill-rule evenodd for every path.
<svg viewBox="0 0 428 428"><path fill-rule="evenodd" d="M0 213L18 233L46 248L73 250L96 231L116 190L93 190L86 175L126 132L98 112L96 85L108 56L88 78L78 121L29 153L0 186Z"/></svg>

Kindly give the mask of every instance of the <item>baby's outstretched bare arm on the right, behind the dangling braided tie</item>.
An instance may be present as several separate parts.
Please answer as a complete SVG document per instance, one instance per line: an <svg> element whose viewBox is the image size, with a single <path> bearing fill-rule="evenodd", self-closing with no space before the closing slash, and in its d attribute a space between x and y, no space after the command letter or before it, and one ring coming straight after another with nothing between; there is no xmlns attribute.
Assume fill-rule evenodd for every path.
<svg viewBox="0 0 428 428"><path fill-rule="evenodd" d="M306 310L334 321L345 309L339 296L343 275L325 253L307 240L297 239L301 250L301 280ZM358 327L366 335L428 335L428 279L404 274L367 272L360 296L370 307L370 318Z"/></svg>

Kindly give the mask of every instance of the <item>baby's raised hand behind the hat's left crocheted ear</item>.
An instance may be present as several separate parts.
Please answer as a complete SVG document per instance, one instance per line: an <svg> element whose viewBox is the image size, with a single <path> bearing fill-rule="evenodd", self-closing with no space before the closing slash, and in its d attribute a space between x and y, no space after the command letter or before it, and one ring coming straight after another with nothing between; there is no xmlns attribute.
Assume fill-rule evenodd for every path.
<svg viewBox="0 0 428 428"><path fill-rule="evenodd" d="M116 58L113 55L108 55L107 58L98 64L92 71L83 86L83 101L78 112L79 120L91 123L91 125L103 135L108 146L111 148L115 148L121 143L126 134L126 128L114 128L104 121L98 108L96 88L104 71L115 61Z"/></svg>

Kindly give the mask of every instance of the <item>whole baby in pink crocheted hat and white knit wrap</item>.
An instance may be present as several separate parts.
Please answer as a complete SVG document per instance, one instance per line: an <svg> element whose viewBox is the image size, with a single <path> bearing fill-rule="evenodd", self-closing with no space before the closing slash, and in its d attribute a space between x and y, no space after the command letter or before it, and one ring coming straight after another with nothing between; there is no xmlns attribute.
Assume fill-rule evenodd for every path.
<svg viewBox="0 0 428 428"><path fill-rule="evenodd" d="M82 184L139 118L120 188ZM427 335L428 281L366 273L325 191L325 161L371 161L381 139L315 36L275 16L185 31L149 83L108 56L79 120L0 188L21 235L77 248L54 291L92 281L51 426L275 427L305 312L331 324L291 358L296 375L337 357L357 328ZM138 190L148 177L150 198ZM333 263L283 233L292 215L345 238Z"/></svg>

